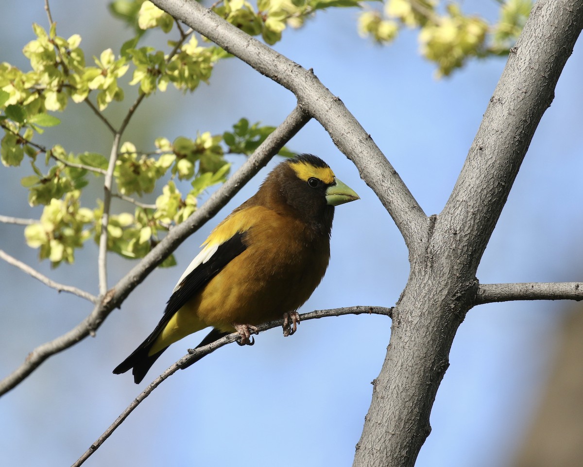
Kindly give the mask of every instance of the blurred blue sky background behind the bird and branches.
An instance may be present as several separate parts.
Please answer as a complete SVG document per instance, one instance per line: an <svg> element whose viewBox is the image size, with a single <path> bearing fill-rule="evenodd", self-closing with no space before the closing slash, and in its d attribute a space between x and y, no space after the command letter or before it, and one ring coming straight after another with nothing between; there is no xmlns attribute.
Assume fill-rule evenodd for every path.
<svg viewBox="0 0 583 467"><path fill-rule="evenodd" d="M29 69L21 51L34 39L31 23L48 29L44 3L0 0L0 5L0 60ZM474 7L496 19L496 2L468 1L463 6L468 12ZM82 36L87 64L92 55L108 47L117 51L131 37L131 31L108 14L106 1L52 0L51 9L59 36ZM286 30L275 48L303 67L314 68L371 134L426 214L438 213L505 59L470 61L451 78L437 81L434 65L418 54L415 32L405 31L392 46L378 47L358 36L356 18L354 9L321 12L303 29ZM167 39L175 36L174 29ZM581 278L582 48L580 40L533 138L480 264L482 283ZM108 107L106 114L115 124L136 92L128 87L127 102ZM201 85L194 95L183 96L169 87L147 99L125 140L151 148L159 136L172 141L178 135L194 137L196 131L222 133L240 117L276 126L294 104L287 90L231 59L220 62L210 85ZM71 103L58 116L61 126L47 130L38 142L108 154L110 134L89 107ZM328 273L301 311L394 305L409 266L391 217L316 121L288 147L324 158L361 197L336 210ZM243 158L233 156L230 161L234 170ZM111 373L156 325L170 291L210 229L257 190L275 163L178 248L177 267L154 271L94 338L51 357L0 399L3 465L70 465L149 381L202 339L205 332L171 346L139 386L131 375ZM26 189L20 185L29 170L26 163L1 169L0 214L40 216L40 208L27 204ZM82 200L93 207L90 197L87 192ZM97 294L97 248L92 241L76 253L73 266L55 270L38 263L36 250L24 242L22 226L0 224L0 248L56 281ZM109 264L110 286L133 265L115 255L109 256ZM78 325L92 306L58 294L5 262L0 262L0 274L4 377L34 347ZM575 423L583 420L577 412L582 406L583 356L567 361L567 356L582 352L581 346L577 350L569 344L583 340L583 330L574 331L577 316L581 320L576 307L561 302L472 309L454 341L451 366L431 414L432 431L417 467L581 465L581 453L575 456L578 463L544 462L542 454L532 455L543 448L543 441L554 446L556 455L567 452L558 444L567 434L575 438L568 438L568 445L583 445L583 428L577 430L567 421L568 415ZM303 323L289 339L271 330L256 337L254 347L224 347L160 385L85 465L350 465L390 326L384 316L326 318ZM571 334L571 340L563 339ZM559 388L549 386L557 381ZM545 427L542 432L537 423Z"/></svg>

